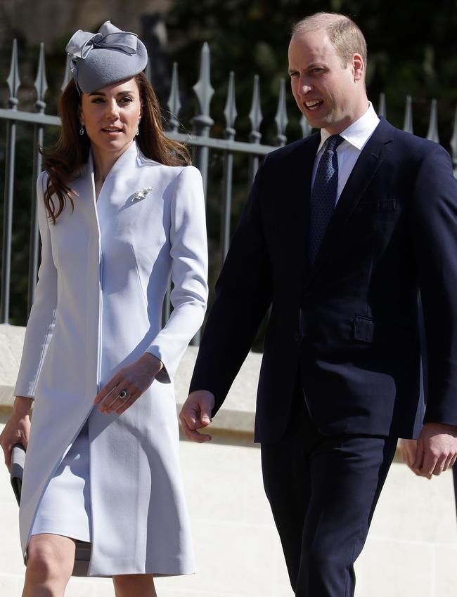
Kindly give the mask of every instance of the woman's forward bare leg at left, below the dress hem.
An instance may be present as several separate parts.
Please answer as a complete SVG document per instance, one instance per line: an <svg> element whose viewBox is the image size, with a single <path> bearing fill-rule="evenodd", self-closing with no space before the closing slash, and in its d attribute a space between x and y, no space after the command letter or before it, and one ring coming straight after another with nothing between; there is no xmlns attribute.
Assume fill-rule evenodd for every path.
<svg viewBox="0 0 457 597"><path fill-rule="evenodd" d="M58 534L35 534L27 549L22 597L63 597L75 563L75 542Z"/></svg>

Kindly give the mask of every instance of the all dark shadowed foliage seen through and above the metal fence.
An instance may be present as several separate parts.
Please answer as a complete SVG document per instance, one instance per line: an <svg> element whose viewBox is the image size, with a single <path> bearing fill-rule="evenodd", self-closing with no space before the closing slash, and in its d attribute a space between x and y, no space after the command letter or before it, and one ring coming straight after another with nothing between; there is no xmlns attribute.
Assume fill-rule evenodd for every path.
<svg viewBox="0 0 457 597"><path fill-rule="evenodd" d="M195 114L192 86L198 79L198 59L204 41L210 44L211 81L216 90L211 103L214 119L212 136L224 136L224 107L228 73L236 75L238 118L236 139L247 140L251 125L248 118L252 100L252 79L259 74L262 113L262 143L276 145L274 116L278 105L280 79L288 79L287 47L292 24L317 11L336 11L351 16L361 27L368 42L368 96L378 107L381 91L386 94L387 118L402 126L406 95L413 97L414 131L427 133L430 100L437 98L439 136L449 147L457 103L457 2L446 0L430 5L425 0L175 0L167 15L170 70L172 61L179 63L181 120L192 129ZM94 30L96 27L94 25ZM46 48L46 113L56 114L56 100L63 81L65 44L71 32L63 32L52 51ZM20 109L34 109L33 81L39 48L26 46L18 39ZM11 60L11 41L0 44L0 103L6 106L5 81ZM167 90L159 90L162 103ZM300 138L300 117L292 94L288 91L290 122L288 140ZM56 138L56 129L46 127L45 145ZM4 188L6 126L0 121L0 188ZM32 197L32 127L18 126L16 143L15 203L13 213L13 263L11 272L11 322L25 323L27 305L27 269ZM231 230L243 209L248 193L248 158L235 156ZM210 153L210 176L207 193L207 224L210 237L210 286L221 261L219 229L221 221L221 180L224 155ZM0 202L0 218L3 202ZM259 346L259 344L258 344Z"/></svg>

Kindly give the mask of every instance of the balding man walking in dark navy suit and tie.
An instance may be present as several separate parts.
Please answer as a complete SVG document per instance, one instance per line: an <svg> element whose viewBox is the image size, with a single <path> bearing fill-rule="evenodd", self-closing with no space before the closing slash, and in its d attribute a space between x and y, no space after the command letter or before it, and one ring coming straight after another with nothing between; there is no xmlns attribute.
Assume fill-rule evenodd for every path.
<svg viewBox="0 0 457 597"><path fill-rule="evenodd" d="M457 446L457 188L436 143L379 120L352 20L295 25L292 93L321 132L267 155L217 282L181 412L188 438L221 407L271 306L255 440L299 597L354 594L398 437L418 432L418 289L429 350L416 468ZM212 415L211 415L212 411Z"/></svg>

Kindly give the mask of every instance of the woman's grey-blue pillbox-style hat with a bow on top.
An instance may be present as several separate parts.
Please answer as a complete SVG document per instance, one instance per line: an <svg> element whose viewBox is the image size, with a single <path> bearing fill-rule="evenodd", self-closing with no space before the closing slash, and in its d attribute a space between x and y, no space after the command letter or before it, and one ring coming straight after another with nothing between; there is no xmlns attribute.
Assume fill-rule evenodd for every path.
<svg viewBox="0 0 457 597"><path fill-rule="evenodd" d="M148 52L134 33L106 21L98 33L79 29L65 48L71 58L79 93L92 93L106 85L131 79L146 68Z"/></svg>

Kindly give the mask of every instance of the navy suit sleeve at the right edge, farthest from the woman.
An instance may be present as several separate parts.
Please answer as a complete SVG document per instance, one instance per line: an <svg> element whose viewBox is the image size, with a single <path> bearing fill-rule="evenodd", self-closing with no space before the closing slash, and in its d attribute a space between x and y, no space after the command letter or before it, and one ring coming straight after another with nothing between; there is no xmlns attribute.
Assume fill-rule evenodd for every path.
<svg viewBox="0 0 457 597"><path fill-rule="evenodd" d="M457 426L457 181L449 154L427 147L410 212L427 354L425 422Z"/></svg>

